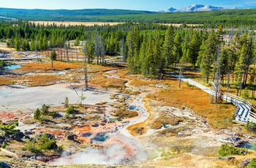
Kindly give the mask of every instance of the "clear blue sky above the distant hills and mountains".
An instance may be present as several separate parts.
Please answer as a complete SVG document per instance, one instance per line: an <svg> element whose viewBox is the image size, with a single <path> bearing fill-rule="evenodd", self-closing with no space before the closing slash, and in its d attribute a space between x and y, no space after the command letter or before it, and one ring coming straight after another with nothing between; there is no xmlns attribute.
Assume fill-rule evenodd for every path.
<svg viewBox="0 0 256 168"><path fill-rule="evenodd" d="M0 7L20 9L136 9L148 11L180 9L192 4L217 7L256 8L255 0L0 0Z"/></svg>

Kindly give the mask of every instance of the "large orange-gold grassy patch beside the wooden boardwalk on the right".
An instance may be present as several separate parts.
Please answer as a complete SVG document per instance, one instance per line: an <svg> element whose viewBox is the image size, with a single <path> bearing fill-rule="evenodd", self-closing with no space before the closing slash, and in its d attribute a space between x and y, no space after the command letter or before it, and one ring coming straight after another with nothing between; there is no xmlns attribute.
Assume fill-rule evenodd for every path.
<svg viewBox="0 0 256 168"><path fill-rule="evenodd" d="M233 104L211 104L207 93L198 88L169 88L147 96L148 99L157 99L161 102L181 104L191 108L197 115L206 118L215 129L224 129L232 126L233 112L236 107Z"/></svg>

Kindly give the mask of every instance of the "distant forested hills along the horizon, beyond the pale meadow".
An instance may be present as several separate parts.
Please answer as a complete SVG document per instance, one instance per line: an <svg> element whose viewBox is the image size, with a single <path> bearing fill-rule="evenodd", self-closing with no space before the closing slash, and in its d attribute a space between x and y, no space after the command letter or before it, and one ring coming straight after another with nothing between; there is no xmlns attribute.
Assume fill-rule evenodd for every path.
<svg viewBox="0 0 256 168"><path fill-rule="evenodd" d="M8 9L0 8L0 16L22 20L193 23L215 26L253 26L256 9L220 10L212 12L165 13L124 9Z"/></svg>

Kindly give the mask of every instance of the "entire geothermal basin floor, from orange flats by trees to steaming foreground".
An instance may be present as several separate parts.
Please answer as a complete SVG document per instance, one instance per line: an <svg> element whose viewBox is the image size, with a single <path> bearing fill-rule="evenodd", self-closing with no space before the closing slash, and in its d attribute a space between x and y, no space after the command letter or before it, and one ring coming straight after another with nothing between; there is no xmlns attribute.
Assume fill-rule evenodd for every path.
<svg viewBox="0 0 256 168"><path fill-rule="evenodd" d="M227 126L213 128L208 118L182 101L167 101L174 93L164 93L178 91L172 77L148 80L128 75L125 67L90 65L85 91L78 62L58 61L55 69L50 69L47 59L15 63L20 68L1 69L2 123L18 121L16 129L29 132L29 137L52 134L63 150L35 159L33 153L22 150L28 140L12 141L0 151L0 160L12 167L237 167L255 156L248 149L246 156L218 159L228 137L238 135L249 144L255 138L245 134L243 126L229 123L229 118L223 121ZM182 87L187 88L184 83ZM76 110L69 118L63 104L66 97ZM34 112L43 104L59 115L35 120ZM230 104L226 108L235 110Z"/></svg>

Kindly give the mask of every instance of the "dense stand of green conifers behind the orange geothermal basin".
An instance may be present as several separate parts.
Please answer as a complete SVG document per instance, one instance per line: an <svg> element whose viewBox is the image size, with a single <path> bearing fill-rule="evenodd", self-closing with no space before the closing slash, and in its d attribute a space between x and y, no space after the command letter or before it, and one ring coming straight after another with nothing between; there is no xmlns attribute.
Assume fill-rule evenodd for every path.
<svg viewBox="0 0 256 168"><path fill-rule="evenodd" d="M0 23L0 39L16 50L69 50L81 45L89 63L106 55L122 56L129 72L159 77L171 67L199 68L206 83L217 75L222 84L255 89L255 32L249 29L197 29L153 23L116 26L56 26L18 21ZM83 45L82 45L83 44Z"/></svg>

